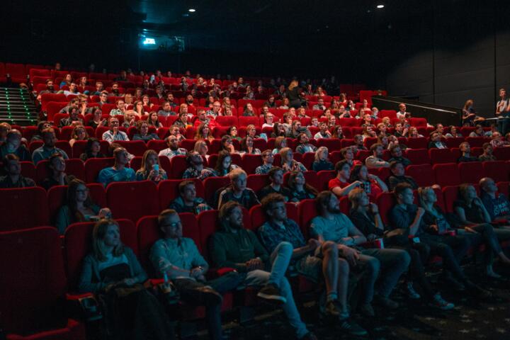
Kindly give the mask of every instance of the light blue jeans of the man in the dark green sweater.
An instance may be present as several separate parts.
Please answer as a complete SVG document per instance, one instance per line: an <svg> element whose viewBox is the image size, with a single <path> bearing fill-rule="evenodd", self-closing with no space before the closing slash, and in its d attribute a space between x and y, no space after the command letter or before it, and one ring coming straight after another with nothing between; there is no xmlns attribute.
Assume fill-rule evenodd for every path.
<svg viewBox="0 0 510 340"><path fill-rule="evenodd" d="M297 337L301 338L308 333L308 330L297 311L292 289L290 288L287 278L285 278L285 272L287 271L292 253L292 244L289 242L281 242L271 254L271 272L261 271L259 269L250 271L246 274L244 284L260 286L273 283L277 285L278 288L280 288L281 296L285 297L287 300L287 303L283 305L283 311L287 315L290 326L295 329Z"/></svg>

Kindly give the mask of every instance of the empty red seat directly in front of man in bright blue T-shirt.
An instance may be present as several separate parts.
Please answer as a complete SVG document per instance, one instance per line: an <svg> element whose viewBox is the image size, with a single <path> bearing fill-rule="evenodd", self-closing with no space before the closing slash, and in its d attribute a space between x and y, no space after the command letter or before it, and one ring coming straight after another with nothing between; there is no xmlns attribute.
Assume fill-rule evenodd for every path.
<svg viewBox="0 0 510 340"><path fill-rule="evenodd" d="M142 216L159 213L157 187L152 181L110 183L106 200L115 218L136 222Z"/></svg>

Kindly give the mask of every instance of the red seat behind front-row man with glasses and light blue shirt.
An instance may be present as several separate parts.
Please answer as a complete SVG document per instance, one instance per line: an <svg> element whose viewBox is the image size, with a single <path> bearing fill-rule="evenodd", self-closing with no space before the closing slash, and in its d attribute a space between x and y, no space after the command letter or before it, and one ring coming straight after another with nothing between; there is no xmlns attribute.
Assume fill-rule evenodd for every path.
<svg viewBox="0 0 510 340"><path fill-rule="evenodd" d="M179 214L183 224L183 237L189 237L195 241L198 251L202 251L200 247L200 229L195 215L189 212ZM157 215L150 215L140 218L137 222L137 240L138 254L140 264L145 268L149 278L159 278L159 274L154 270L154 266L149 259L150 249L154 242L163 237L163 233L159 229Z"/></svg>

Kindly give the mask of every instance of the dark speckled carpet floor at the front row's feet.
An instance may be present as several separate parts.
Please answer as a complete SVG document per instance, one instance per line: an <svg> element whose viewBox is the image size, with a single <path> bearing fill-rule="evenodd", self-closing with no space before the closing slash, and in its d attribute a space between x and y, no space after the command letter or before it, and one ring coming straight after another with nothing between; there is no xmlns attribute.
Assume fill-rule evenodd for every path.
<svg viewBox="0 0 510 340"><path fill-rule="evenodd" d="M302 317L308 329L314 331L319 339L510 339L510 268L498 268L504 279L487 280L482 276L482 266L465 266L466 273L478 284L489 289L493 297L477 302L463 291L442 289L446 300L455 303L454 310L438 311L417 302L407 300L398 290L392 297L402 302L395 312L376 308L373 319L358 319L369 331L364 338L344 336L334 326L322 324L317 317L315 307L305 307ZM436 276L431 280L435 281ZM265 318L240 326L233 323L225 330L229 339L294 339L293 331L288 327L281 312L269 311ZM208 339L199 336L198 339Z"/></svg>

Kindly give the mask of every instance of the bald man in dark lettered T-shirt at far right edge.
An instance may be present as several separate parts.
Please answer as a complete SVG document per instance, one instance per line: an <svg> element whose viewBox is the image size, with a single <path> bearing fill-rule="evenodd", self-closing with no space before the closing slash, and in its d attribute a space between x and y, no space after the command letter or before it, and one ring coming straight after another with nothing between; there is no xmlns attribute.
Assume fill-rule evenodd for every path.
<svg viewBox="0 0 510 340"><path fill-rule="evenodd" d="M492 222L504 222L510 225L510 202L502 193L498 193L498 188L494 179L484 177L480 179L480 189L482 189L482 203L489 212Z"/></svg>

